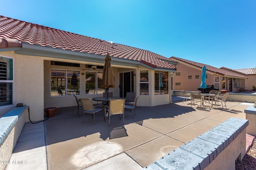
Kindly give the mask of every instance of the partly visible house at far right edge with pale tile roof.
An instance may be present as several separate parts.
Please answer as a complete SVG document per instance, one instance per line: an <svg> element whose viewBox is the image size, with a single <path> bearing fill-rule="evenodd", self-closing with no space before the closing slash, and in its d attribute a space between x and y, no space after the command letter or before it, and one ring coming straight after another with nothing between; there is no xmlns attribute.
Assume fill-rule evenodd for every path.
<svg viewBox="0 0 256 170"><path fill-rule="evenodd" d="M245 89L252 90L252 86L256 86L256 68L244 68L244 69L231 69L226 67L221 67L220 69L236 72L247 77L245 79Z"/></svg>

